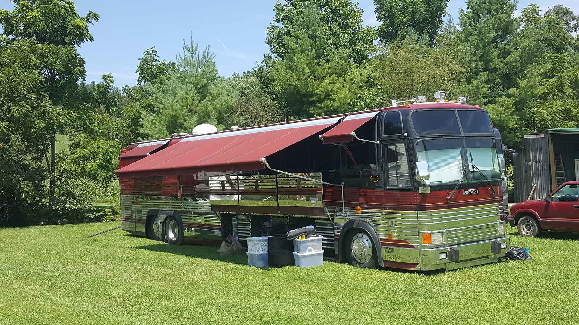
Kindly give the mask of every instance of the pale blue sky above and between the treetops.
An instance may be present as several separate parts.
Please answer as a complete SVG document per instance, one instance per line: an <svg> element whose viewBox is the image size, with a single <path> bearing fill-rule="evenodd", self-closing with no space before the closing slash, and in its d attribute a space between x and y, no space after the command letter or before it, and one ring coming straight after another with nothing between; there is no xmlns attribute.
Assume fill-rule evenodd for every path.
<svg viewBox="0 0 579 325"><path fill-rule="evenodd" d="M0 3L2 9L14 8L7 0ZM220 75L250 70L268 50L265 30L272 21L274 5L274 1L265 0L76 0L75 3L81 16L87 10L101 15L100 21L90 27L94 42L79 49L86 60L87 82L112 73L117 86L133 86L137 82L135 68L145 49L155 46L161 59L174 60L181 51L183 38L189 39L190 32L200 48L211 47ZM364 9L364 23L377 26L373 1L358 3ZM521 0L517 12L529 3ZM538 3L543 12L562 3L579 14L579 2L575 0L533 3ZM463 0L450 0L447 10L455 23L459 8L465 7Z"/></svg>

